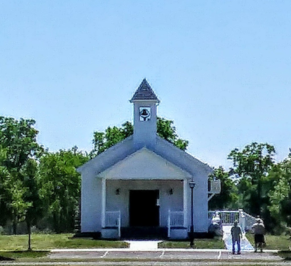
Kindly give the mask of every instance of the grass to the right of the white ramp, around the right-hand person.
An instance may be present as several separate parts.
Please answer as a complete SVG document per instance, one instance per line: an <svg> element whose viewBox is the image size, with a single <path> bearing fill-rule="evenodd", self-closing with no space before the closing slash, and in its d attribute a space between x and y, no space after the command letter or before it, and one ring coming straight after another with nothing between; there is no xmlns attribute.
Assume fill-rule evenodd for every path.
<svg viewBox="0 0 291 266"><path fill-rule="evenodd" d="M246 237L249 239L251 244L255 246L254 241L254 234L247 233ZM285 235L265 235L265 241L266 246L264 249L280 249L280 250L288 250L288 248L291 246L291 240L289 239L289 236Z"/></svg>

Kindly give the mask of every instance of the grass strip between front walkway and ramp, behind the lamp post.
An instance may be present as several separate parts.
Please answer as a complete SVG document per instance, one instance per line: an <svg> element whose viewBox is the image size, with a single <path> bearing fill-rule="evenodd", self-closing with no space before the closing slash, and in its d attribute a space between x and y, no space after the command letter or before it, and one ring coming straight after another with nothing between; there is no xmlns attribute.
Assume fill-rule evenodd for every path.
<svg viewBox="0 0 291 266"><path fill-rule="evenodd" d="M221 237L214 239L194 239L195 248L225 248ZM159 243L159 248L190 248L188 241L163 241Z"/></svg>

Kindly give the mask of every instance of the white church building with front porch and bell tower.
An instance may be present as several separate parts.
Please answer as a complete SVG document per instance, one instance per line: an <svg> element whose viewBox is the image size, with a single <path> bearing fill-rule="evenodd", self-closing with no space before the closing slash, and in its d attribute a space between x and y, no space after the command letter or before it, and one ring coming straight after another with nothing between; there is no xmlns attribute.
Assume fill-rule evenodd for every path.
<svg viewBox="0 0 291 266"><path fill-rule="evenodd" d="M159 99L146 79L130 102L133 135L77 169L81 233L113 239L160 230L186 239L192 222L194 232L207 232L209 196L218 192L208 182L212 168L157 135Z"/></svg>

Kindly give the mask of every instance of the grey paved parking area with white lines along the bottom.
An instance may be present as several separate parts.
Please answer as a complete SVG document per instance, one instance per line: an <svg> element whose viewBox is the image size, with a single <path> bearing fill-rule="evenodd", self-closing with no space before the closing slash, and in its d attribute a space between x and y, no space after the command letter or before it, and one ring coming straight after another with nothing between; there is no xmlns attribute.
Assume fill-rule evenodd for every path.
<svg viewBox="0 0 291 266"><path fill-rule="evenodd" d="M48 261L46 261L48 260ZM40 262L0 262L0 266L291 266L272 252L245 252L232 255L227 251L155 251L103 250L53 251Z"/></svg>

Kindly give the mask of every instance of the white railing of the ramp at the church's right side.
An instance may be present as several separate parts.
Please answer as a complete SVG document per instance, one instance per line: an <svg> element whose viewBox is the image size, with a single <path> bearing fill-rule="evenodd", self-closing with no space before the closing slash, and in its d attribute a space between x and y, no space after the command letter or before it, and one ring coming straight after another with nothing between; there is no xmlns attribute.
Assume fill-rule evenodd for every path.
<svg viewBox="0 0 291 266"><path fill-rule="evenodd" d="M234 224L235 220L237 220L239 226L245 232L250 230L252 225L255 223L255 217L249 215L248 213L244 212L242 209L238 209L237 211L209 211L208 218L211 222L211 219L215 213L218 212L221 222L224 225L232 225Z"/></svg>

